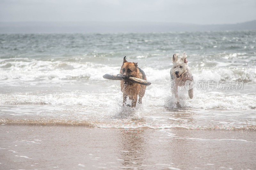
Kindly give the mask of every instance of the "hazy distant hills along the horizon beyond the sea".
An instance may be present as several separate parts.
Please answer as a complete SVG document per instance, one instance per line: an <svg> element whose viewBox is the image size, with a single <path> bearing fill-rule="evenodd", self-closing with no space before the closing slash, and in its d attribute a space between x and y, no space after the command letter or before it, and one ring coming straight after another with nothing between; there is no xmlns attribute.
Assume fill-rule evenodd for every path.
<svg viewBox="0 0 256 170"><path fill-rule="evenodd" d="M113 33L256 30L256 20L237 24L198 25L163 22L0 22L0 33Z"/></svg>

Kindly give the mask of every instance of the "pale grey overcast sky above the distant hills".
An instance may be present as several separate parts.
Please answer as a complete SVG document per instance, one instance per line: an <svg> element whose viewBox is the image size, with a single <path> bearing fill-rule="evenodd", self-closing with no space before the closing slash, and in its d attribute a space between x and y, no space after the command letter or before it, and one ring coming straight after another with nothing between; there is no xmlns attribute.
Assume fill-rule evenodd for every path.
<svg viewBox="0 0 256 170"><path fill-rule="evenodd" d="M232 24L256 19L256 0L0 0L0 22L158 21Z"/></svg>

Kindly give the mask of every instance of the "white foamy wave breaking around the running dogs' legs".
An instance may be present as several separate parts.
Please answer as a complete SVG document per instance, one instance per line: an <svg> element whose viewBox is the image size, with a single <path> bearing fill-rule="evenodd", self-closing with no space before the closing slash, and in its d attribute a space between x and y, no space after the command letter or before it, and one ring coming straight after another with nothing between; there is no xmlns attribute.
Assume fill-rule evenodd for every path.
<svg viewBox="0 0 256 170"><path fill-rule="evenodd" d="M52 92L51 94L0 94L0 104L3 105L63 105L63 106L92 106L112 107L122 103L122 93L118 85L114 85L99 92L88 93L75 92ZM112 90L113 89L113 90ZM107 90L107 91L106 91ZM234 94L217 91L202 91L194 89L194 98L188 99L188 92L184 89L179 91L181 107L197 109L255 109L256 99L254 95ZM144 107L170 107L175 108L174 97L171 89L167 86L159 87L152 85L146 90L143 97Z"/></svg>

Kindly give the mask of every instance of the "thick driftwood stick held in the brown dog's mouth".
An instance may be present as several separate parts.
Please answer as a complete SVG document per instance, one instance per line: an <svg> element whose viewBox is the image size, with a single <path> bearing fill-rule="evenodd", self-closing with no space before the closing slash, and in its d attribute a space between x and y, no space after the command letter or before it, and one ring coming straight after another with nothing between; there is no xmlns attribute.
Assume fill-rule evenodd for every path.
<svg viewBox="0 0 256 170"><path fill-rule="evenodd" d="M110 80L128 80L128 81L131 81L132 83L138 83L141 85L151 85L151 83L148 82L147 80L143 80L140 78L129 77L128 79L126 79L126 77L123 76L122 74L117 74L117 75L105 74L103 78L110 79Z"/></svg>

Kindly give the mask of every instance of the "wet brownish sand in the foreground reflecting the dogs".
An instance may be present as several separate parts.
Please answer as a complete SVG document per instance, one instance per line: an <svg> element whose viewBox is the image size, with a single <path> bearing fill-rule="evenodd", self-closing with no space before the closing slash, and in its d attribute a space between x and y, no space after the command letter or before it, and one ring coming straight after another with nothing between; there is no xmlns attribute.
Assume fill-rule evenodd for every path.
<svg viewBox="0 0 256 170"><path fill-rule="evenodd" d="M0 169L255 169L256 131L0 125Z"/></svg>

